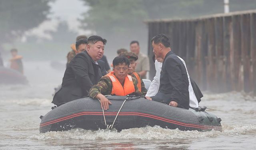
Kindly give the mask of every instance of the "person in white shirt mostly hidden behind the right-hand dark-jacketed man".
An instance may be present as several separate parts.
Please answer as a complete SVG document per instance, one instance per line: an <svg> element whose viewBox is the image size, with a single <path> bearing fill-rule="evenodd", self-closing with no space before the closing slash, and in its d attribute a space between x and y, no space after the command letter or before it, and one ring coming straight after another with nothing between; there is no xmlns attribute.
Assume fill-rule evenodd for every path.
<svg viewBox="0 0 256 150"><path fill-rule="evenodd" d="M180 58L180 57L178 56L178 58ZM184 66L186 68L186 71L187 71L187 75L188 75L189 106L193 107L193 108L198 108L198 106L199 106L198 100L196 98L193 87L191 85L190 76L188 74L186 63L182 58L180 58L180 60L183 62ZM156 60L155 60L156 75L155 75L153 81L151 82L150 87L148 88L148 92L145 96L146 99L148 99L148 100L152 100L152 98L150 98L150 97L155 96L156 93L158 92L158 89L159 89L159 86L160 86L160 72L161 72L161 69L162 69L162 62L163 61L164 60L162 58L156 58Z"/></svg>

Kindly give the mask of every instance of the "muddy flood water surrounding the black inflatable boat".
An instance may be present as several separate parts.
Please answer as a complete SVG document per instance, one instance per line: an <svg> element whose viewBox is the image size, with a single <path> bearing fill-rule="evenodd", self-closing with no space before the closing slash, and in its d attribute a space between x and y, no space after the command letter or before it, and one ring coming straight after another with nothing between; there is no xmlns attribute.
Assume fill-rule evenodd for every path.
<svg viewBox="0 0 256 150"><path fill-rule="evenodd" d="M116 130L73 129L39 133L40 115L64 74L50 62L24 62L29 85L0 85L0 149L256 149L256 98L238 92L204 93L201 106L222 118L223 132L180 131L158 126Z"/></svg>

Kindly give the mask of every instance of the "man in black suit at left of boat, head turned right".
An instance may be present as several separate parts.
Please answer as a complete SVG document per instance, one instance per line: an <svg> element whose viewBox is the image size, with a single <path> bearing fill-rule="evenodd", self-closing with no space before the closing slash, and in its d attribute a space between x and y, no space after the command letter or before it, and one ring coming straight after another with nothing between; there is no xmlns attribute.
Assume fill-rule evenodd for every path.
<svg viewBox="0 0 256 150"><path fill-rule="evenodd" d="M88 95L90 88L101 78L97 61L104 54L106 42L106 39L100 36L88 38L86 50L76 54L68 64L62 79L62 87L54 95L52 103L60 106Z"/></svg>

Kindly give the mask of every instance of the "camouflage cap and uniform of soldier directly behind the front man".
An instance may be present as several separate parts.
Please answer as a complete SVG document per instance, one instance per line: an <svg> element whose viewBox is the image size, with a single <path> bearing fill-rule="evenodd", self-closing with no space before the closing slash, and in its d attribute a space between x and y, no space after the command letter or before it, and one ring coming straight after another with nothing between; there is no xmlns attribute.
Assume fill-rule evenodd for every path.
<svg viewBox="0 0 256 150"><path fill-rule="evenodd" d="M138 56L134 52L122 52L120 54L120 56L127 57L129 60L135 60L135 61L138 60ZM141 92L142 92L142 95L145 96L147 94L148 90L145 88L145 84L142 81L140 74L138 74L138 75L140 77L140 81L137 81L137 82L141 83ZM133 73L131 76L136 78L136 76ZM137 80L137 78L136 78L136 80Z"/></svg>

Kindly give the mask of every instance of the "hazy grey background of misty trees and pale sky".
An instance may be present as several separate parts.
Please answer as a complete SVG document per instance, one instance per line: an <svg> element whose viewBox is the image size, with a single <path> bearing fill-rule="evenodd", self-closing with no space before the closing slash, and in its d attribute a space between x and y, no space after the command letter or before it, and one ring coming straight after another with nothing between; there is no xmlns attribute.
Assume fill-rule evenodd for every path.
<svg viewBox="0 0 256 150"><path fill-rule="evenodd" d="M230 0L230 12L250 9L256 0ZM129 50L132 40L147 52L143 20L223 12L223 0L0 0L0 52L5 66L11 48L23 61L65 62L76 36L97 34L108 40L105 55L112 62L116 50Z"/></svg>

